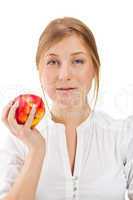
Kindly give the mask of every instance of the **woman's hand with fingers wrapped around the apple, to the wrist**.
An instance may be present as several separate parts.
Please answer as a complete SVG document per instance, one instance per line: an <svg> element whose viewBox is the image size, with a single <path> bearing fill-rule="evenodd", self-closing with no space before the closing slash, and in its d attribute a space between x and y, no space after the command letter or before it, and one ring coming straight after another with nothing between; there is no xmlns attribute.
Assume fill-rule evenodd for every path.
<svg viewBox="0 0 133 200"><path fill-rule="evenodd" d="M36 112L36 108L32 106L29 117L24 125L17 123L15 112L18 107L18 102L10 101L3 109L2 121L8 127L12 134L19 138L27 145L30 151L40 151L45 149L45 139L36 128L30 128L32 120Z"/></svg>

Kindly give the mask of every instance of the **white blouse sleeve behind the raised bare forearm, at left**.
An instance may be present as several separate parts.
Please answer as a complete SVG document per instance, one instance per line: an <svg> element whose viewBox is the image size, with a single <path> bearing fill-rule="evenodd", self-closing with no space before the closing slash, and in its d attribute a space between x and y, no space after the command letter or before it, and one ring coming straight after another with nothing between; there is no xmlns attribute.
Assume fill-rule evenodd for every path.
<svg viewBox="0 0 133 200"><path fill-rule="evenodd" d="M4 144L0 145L0 199L11 189L27 152L26 146L16 136L7 134Z"/></svg>

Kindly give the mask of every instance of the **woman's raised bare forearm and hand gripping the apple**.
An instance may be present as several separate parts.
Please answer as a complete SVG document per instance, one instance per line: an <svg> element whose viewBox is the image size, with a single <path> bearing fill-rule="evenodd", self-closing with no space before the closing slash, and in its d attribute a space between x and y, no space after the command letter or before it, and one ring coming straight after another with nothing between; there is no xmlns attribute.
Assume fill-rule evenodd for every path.
<svg viewBox="0 0 133 200"><path fill-rule="evenodd" d="M7 197L4 200L34 200L43 160L45 157L45 138L36 128L31 129L35 117L36 107L32 106L30 114L24 125L17 123L15 112L19 102L14 100L7 104L2 112L2 121L10 132L20 139L29 149L19 175L13 180ZM17 163L16 163L17 167ZM7 171L9 168L7 167ZM16 170L17 171L17 170ZM12 171L10 172L12 173Z"/></svg>

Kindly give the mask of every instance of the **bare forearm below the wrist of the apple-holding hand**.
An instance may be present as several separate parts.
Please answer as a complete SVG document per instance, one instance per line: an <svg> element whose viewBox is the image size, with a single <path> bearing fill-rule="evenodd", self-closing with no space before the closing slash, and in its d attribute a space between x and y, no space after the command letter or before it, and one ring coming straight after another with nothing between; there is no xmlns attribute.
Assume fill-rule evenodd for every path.
<svg viewBox="0 0 133 200"><path fill-rule="evenodd" d="M14 185L3 200L35 200L45 151L30 152Z"/></svg>

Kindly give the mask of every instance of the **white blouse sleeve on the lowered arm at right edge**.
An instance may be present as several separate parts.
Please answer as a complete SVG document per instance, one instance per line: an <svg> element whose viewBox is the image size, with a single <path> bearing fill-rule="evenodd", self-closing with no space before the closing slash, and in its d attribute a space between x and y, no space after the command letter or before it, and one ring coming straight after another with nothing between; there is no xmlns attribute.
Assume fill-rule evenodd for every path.
<svg viewBox="0 0 133 200"><path fill-rule="evenodd" d="M125 153L124 169L127 177L127 194L133 199L133 115L124 120L124 140L122 150Z"/></svg>

